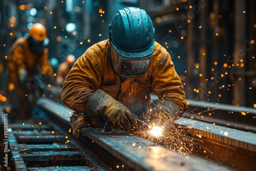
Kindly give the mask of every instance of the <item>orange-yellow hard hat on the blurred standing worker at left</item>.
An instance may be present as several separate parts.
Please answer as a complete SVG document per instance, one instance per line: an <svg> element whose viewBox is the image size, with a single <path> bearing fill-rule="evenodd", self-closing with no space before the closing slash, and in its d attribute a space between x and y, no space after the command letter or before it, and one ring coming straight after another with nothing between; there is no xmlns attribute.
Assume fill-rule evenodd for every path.
<svg viewBox="0 0 256 171"><path fill-rule="evenodd" d="M47 38L47 31L44 25L40 23L35 23L29 30L29 34L31 37L38 41L44 41Z"/></svg>

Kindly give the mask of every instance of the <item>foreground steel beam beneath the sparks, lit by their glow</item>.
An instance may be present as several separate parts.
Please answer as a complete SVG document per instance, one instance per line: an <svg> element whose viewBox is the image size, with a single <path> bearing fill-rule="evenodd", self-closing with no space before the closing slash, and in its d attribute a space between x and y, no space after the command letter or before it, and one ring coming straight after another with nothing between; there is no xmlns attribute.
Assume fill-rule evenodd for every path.
<svg viewBox="0 0 256 171"><path fill-rule="evenodd" d="M90 138L90 140L83 139L84 136L81 136L80 140L98 144L109 155L119 160L119 164L113 166L115 169L122 166L124 170L212 170L216 168L235 170L214 163L212 160L204 158L198 160L198 156L191 156L188 160L187 156L175 153L137 136L123 135L122 131L112 131L112 134L108 132L108 135L106 135L101 129L82 128L80 133ZM98 147L97 145L91 146ZM107 158L105 156L105 159Z"/></svg>

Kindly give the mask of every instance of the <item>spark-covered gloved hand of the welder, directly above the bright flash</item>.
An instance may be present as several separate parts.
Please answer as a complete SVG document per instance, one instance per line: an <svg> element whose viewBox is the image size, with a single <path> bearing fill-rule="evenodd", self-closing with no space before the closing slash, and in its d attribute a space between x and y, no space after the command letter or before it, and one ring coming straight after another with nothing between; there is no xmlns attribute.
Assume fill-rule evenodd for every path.
<svg viewBox="0 0 256 171"><path fill-rule="evenodd" d="M180 109L170 100L159 99L155 101L154 108L151 113L151 119L153 122L156 120L165 121L167 119L175 121L179 118Z"/></svg>

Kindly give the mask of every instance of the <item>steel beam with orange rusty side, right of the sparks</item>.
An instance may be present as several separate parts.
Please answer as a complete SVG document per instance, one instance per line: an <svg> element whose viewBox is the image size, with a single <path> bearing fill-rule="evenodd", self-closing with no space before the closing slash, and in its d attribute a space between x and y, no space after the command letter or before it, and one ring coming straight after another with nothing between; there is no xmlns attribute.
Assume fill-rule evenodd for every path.
<svg viewBox="0 0 256 171"><path fill-rule="evenodd" d="M210 123L180 118L177 122L191 127L196 135L201 135L204 146L211 153L202 154L233 166L239 170L254 170L256 168L256 134Z"/></svg>

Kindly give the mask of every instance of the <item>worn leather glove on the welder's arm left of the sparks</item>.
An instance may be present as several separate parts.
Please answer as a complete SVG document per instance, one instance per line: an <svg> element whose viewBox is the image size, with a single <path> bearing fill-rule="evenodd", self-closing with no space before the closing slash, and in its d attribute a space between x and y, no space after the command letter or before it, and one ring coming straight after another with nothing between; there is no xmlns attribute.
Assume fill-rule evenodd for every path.
<svg viewBox="0 0 256 171"><path fill-rule="evenodd" d="M100 89L88 99L87 114L89 118L107 118L119 129L130 129L137 124L135 115L126 106Z"/></svg>

